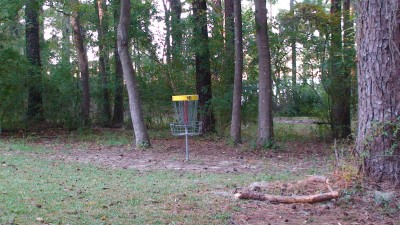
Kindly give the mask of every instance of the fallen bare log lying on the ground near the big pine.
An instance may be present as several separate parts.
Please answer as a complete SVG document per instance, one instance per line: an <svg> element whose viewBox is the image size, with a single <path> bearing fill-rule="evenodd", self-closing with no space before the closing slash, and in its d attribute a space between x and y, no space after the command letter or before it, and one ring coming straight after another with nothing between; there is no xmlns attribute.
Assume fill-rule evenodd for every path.
<svg viewBox="0 0 400 225"><path fill-rule="evenodd" d="M331 199L339 198L340 194L337 191L328 193L316 194L316 195L304 195L304 196L281 196L281 195L269 195L262 194L259 192L242 192L236 193L235 198L237 199L252 199L259 201L269 201L271 203L317 203L324 202Z"/></svg>

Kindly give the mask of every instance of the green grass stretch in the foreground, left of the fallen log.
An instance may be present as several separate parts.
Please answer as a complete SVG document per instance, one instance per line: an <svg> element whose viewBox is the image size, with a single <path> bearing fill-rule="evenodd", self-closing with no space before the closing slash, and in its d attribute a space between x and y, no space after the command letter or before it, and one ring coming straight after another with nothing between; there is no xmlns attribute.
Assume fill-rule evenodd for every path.
<svg viewBox="0 0 400 225"><path fill-rule="evenodd" d="M216 192L287 178L112 169L0 146L0 224L228 224L235 202Z"/></svg>

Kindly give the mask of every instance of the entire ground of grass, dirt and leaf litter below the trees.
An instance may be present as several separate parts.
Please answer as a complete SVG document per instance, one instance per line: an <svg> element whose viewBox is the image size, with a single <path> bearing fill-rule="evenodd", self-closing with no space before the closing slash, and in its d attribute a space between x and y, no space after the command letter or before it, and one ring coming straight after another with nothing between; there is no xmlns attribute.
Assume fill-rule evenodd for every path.
<svg viewBox="0 0 400 225"><path fill-rule="evenodd" d="M126 130L2 134L0 224L400 225L400 194L359 177L351 145L336 146L343 161L335 167L331 143L321 141L326 131L314 124L277 123L276 149L254 150L251 133L239 147L191 138L189 162L183 139L162 132L147 150L132 150ZM341 197L317 204L233 199L257 181L270 185L262 190L269 194L327 191L325 184L290 189L307 175L332 178Z"/></svg>

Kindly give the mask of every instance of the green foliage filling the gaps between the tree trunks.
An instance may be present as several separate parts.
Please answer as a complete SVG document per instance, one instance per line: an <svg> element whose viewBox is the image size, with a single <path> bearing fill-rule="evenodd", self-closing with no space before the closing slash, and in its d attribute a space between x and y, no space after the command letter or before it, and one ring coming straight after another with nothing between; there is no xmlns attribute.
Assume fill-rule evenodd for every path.
<svg viewBox="0 0 400 225"><path fill-rule="evenodd" d="M108 89L110 90L111 105L114 99L115 64L112 50L115 47L115 18L114 11L119 8L116 1L108 3L106 22L109 30L106 32L106 48L109 54ZM270 1L274 3L275 1ZM10 3L10 4L8 4ZM183 1L183 14L179 24L170 24L175 29L180 29L182 45L179 49L172 49L173 58L169 64L160 56L160 49L165 48L160 40L155 40L156 33L149 27L152 21L164 23L165 18L159 16L154 1L131 1L131 56L139 82L140 95L144 110L146 125L150 128L165 129L173 120L171 95L192 94L196 92L194 52L204 49L204 46L193 42L194 21L191 16L183 16L191 11L190 2ZM94 2L80 2L71 5L68 1L46 1L41 14L41 22L46 23L47 35L50 38L41 43L42 75L43 75L43 101L46 121L53 125L60 125L70 129L79 128L81 90L79 73L77 71L76 53L73 43L65 43L66 39L60 34L65 30L65 15L76 10L80 12L81 23L85 34L87 49L97 47L96 37L97 15ZM23 17L24 2L0 0L0 21L6 23L1 26L1 43L3 47L0 59L5 64L0 65L0 121L3 128L7 125L24 124L27 103L26 70L23 48L23 24L17 22ZM269 36L272 56L272 74L274 91L274 113L277 116L311 116L321 121L329 120L331 99L325 87L329 85L326 79L329 75L329 32L331 15L329 5L321 0L303 1L297 3L293 12L281 11L276 17L269 18ZM223 15L221 11L207 11L209 24L209 45L211 54L211 72L213 100L212 107L216 118L216 128L219 136L225 136L230 125L230 108L232 86L229 79L233 74L226 73L227 53L224 49ZM12 22L11 22L12 21ZM242 96L242 121L252 124L258 116L258 54L255 39L254 10L251 7L243 10L243 48L244 48L244 75ZM172 20L172 22L175 22ZM171 23L172 23L171 22ZM49 29L50 28L50 29ZM350 31L354 37L354 30ZM171 33L171 37L173 34ZM297 84L292 84L290 46L295 36L298 46ZM161 37L165 38L165 37ZM171 39L172 40L172 39ZM349 40L349 43L353 39ZM172 43L172 41L171 41ZM71 49L70 59L66 59L64 47ZM15 46L5 48L4 46ZM61 48L60 48L61 46ZM68 47L69 46L69 47ZM301 47L300 47L301 46ZM64 50L63 50L64 49ZM165 50L165 49L164 49ZM344 55L353 57L354 45L344 44ZM68 54L67 54L68 55ZM8 60L8 61L7 61ZM343 66L354 68L352 60L341 62ZM102 82L98 76L98 63L90 62L90 89L91 89L91 117L95 122L101 121L97 111L103 101ZM355 82L354 76L352 81ZM352 83L354 84L354 83ZM354 93L354 91L353 91ZM129 112L127 96L124 96L125 112ZM356 110L356 99L353 98L353 109ZM126 114L127 115L127 114ZM129 118L125 118L129 121ZM22 123L21 123L22 122ZM97 123L95 123L97 124ZM289 129L290 130L290 129ZM254 133L253 133L254 135ZM290 135L289 135L290 136Z"/></svg>

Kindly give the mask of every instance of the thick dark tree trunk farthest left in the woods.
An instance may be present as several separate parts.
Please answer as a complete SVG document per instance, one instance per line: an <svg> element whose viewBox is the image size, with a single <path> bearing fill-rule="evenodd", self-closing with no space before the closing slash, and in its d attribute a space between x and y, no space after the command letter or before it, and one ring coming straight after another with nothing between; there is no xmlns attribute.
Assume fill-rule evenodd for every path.
<svg viewBox="0 0 400 225"><path fill-rule="evenodd" d="M28 99L28 120L30 122L41 122L44 120L42 100L42 78L40 58L40 28L39 12L40 4L37 0L26 1L25 5L25 41L26 55L31 64L29 68L29 99Z"/></svg>

